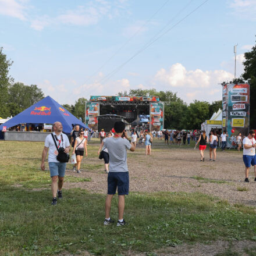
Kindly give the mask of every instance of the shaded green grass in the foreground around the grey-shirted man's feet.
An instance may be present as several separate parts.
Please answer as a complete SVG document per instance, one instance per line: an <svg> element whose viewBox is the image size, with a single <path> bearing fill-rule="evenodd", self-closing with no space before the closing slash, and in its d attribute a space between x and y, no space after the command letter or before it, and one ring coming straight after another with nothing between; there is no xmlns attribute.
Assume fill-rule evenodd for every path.
<svg viewBox="0 0 256 256"><path fill-rule="evenodd" d="M120 255L222 237L256 240L255 214L200 193L132 193L126 197L129 225L123 228L103 225L105 195L65 190L52 207L48 190L2 186L0 193L0 255ZM112 217L117 216L115 197Z"/></svg>

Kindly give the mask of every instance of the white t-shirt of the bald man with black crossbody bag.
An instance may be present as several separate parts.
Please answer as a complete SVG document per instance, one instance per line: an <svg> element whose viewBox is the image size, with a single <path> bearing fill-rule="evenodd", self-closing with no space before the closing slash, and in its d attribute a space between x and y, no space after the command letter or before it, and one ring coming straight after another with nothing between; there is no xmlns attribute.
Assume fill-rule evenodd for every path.
<svg viewBox="0 0 256 256"><path fill-rule="evenodd" d="M54 136L56 135L55 132L53 132L53 134L54 134ZM62 134L63 142L61 140L61 134ZM69 147L69 145L70 145L69 138L66 136L66 134L64 134L64 133L61 133L61 134L59 134L59 136L57 136L58 141L55 140L57 146L62 147L62 148ZM52 134L47 135L47 137L45 138L44 145L45 145L45 147L49 148L48 162L59 163L59 161L57 160L58 151L56 149L54 140L52 139Z"/></svg>

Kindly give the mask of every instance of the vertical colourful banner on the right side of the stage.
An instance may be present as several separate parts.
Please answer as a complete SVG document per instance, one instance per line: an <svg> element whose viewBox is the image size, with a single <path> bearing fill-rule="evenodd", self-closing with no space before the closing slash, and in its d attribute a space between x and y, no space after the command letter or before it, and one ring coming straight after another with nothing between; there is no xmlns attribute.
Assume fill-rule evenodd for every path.
<svg viewBox="0 0 256 256"><path fill-rule="evenodd" d="M163 104L161 102L150 103L150 130L163 129Z"/></svg>

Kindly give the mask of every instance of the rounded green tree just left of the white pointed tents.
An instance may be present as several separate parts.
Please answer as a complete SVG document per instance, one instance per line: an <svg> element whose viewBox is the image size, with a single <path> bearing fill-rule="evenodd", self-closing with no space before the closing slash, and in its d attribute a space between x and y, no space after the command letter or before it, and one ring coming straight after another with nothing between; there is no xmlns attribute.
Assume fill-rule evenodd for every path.
<svg viewBox="0 0 256 256"><path fill-rule="evenodd" d="M201 123L209 118L209 102L197 101L190 103L187 108L187 124L190 129L201 129Z"/></svg>

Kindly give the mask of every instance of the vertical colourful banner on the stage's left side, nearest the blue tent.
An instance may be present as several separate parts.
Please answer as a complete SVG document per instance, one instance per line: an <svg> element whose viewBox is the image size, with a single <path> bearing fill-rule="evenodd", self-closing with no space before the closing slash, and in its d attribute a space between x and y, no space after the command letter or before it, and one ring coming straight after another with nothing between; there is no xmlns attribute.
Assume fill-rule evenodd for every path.
<svg viewBox="0 0 256 256"><path fill-rule="evenodd" d="M86 125L93 130L98 130L99 103L86 102Z"/></svg>

